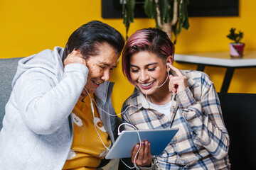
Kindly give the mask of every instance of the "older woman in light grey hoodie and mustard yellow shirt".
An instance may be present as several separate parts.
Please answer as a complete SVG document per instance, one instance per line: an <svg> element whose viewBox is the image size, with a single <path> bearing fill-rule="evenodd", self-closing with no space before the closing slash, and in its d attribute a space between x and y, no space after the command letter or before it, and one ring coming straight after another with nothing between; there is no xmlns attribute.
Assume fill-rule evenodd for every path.
<svg viewBox="0 0 256 170"><path fill-rule="evenodd" d="M18 62L0 133L0 169L96 169L119 120L108 80L124 39L91 21L65 49L43 50Z"/></svg>

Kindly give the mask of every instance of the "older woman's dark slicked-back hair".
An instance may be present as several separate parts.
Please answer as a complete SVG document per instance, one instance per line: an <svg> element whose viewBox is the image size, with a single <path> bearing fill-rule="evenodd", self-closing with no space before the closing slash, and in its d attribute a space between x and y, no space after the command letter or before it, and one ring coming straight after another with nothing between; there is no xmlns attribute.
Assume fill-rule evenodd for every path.
<svg viewBox="0 0 256 170"><path fill-rule="evenodd" d="M63 52L63 61L73 50L78 49L85 59L98 55L99 45L105 42L110 44L117 54L122 52L124 38L116 29L100 21L90 21L70 35Z"/></svg>

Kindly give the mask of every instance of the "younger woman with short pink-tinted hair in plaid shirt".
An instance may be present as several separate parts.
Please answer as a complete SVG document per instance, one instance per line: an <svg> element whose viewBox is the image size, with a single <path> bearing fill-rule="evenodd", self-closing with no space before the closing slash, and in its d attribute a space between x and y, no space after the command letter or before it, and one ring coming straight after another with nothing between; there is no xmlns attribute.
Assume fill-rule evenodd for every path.
<svg viewBox="0 0 256 170"><path fill-rule="evenodd" d="M132 162L141 169L229 169L230 140L213 82L173 62L174 44L157 28L138 30L124 46L122 69L136 87L122 107L124 122L137 129L179 128L161 155L152 157L144 141L138 157L134 147Z"/></svg>

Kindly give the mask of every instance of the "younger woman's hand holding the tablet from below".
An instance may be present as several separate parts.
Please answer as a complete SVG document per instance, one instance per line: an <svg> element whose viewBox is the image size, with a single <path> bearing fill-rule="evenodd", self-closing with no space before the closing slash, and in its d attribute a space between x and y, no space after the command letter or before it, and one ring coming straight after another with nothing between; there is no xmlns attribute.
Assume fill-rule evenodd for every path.
<svg viewBox="0 0 256 170"><path fill-rule="evenodd" d="M134 157L139 150L139 144L135 145L132 151L132 163L134 163ZM136 157L137 166L151 166L153 160L152 155L150 154L150 142L142 141L142 147L139 150L139 154Z"/></svg>

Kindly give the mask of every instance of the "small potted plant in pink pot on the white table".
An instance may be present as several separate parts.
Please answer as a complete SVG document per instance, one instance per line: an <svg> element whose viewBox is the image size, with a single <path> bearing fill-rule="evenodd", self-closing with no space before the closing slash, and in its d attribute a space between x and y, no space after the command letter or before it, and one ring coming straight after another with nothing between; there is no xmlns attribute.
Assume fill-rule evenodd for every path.
<svg viewBox="0 0 256 170"><path fill-rule="evenodd" d="M244 34L241 31L239 31L238 33L235 33L235 28L230 29L230 33L227 35L227 37L230 40L234 41L229 44L231 57L242 57L243 56L243 50L245 47L245 43L241 42L243 35Z"/></svg>

